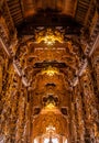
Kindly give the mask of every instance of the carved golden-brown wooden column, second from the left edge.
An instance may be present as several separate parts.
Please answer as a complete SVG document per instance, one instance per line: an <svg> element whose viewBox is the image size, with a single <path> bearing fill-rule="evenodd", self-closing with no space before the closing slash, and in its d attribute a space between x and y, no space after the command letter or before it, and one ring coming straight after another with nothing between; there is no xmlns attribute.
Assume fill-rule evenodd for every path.
<svg viewBox="0 0 99 143"><path fill-rule="evenodd" d="M11 64L9 64L9 68L8 68L8 78L7 78L7 82L4 86L7 86L6 91L2 91L2 103L3 103L3 108L1 111L1 131L3 132L3 134L6 135L6 141L4 142L11 142L13 140L14 136L14 119L13 119L13 111L14 107L12 108L12 103L14 103L13 100L13 96L15 94L15 90L13 89L13 76L14 76L14 72L13 72L13 67ZM6 79L4 79L6 80ZM4 90L4 88L2 88L2 90ZM4 122L6 121L6 122ZM11 124L11 127L9 127Z"/></svg>

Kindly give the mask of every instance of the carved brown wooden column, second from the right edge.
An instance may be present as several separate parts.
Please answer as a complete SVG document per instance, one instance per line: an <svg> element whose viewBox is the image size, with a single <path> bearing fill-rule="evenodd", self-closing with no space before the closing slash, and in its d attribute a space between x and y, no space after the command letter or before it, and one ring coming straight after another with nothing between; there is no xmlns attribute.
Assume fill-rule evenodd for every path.
<svg viewBox="0 0 99 143"><path fill-rule="evenodd" d="M81 77L81 87L85 102L85 142L92 143L95 141L95 124L98 120L98 112L89 68L86 69Z"/></svg>

